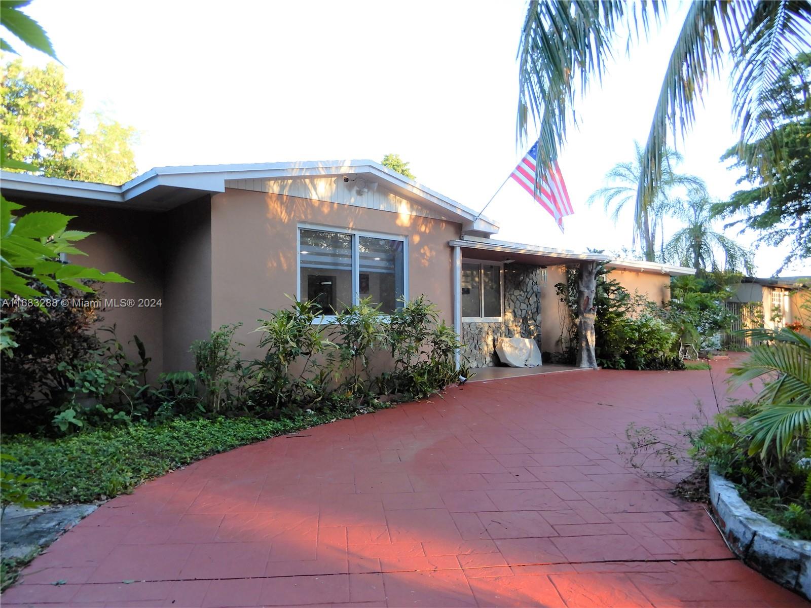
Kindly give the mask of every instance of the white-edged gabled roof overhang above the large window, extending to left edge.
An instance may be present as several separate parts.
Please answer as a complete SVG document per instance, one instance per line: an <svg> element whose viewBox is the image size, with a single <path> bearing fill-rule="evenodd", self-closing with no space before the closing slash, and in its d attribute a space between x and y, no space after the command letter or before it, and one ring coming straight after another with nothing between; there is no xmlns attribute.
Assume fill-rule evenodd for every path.
<svg viewBox="0 0 811 608"><path fill-rule="evenodd" d="M82 200L105 207L166 211L207 194L225 192L225 182L238 179L284 179L363 175L396 195L418 199L462 224L463 233L495 234L498 225L472 209L436 191L405 178L375 161L302 161L246 165L191 165L157 167L122 186L108 186L67 179L43 178L26 173L0 171L0 187L8 196L23 199Z"/></svg>

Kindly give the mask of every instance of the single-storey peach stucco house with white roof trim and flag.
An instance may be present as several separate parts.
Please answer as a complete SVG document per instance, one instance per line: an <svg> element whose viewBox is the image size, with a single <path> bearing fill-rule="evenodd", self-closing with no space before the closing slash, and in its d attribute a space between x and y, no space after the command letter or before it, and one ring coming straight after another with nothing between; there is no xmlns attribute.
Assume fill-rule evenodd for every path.
<svg viewBox="0 0 811 608"><path fill-rule="evenodd" d="M261 309L290 306L286 294L313 300L326 320L359 298L390 312L424 295L473 366L496 362L499 336L555 351L555 283L567 266L611 260L498 241L486 217L372 161L164 167L122 186L2 172L0 187L26 212L67 213L73 229L95 233L75 261L133 281L103 287L116 300L104 322L122 342L144 340L156 371L189 368L191 342L224 323L242 322L243 356L260 356L251 331ZM656 302L672 274L694 272L611 266Z"/></svg>

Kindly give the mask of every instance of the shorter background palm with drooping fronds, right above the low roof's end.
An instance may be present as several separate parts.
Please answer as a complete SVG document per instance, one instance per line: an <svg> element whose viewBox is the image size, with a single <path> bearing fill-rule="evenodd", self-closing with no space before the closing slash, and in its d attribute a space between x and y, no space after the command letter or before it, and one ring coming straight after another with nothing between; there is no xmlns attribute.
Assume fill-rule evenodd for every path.
<svg viewBox="0 0 811 608"><path fill-rule="evenodd" d="M686 202L674 204L676 217L687 225L677 230L663 247L663 262L697 270L753 272L752 255L731 238L715 232L711 208L714 201L703 189L690 191ZM723 258L723 264L719 261Z"/></svg>

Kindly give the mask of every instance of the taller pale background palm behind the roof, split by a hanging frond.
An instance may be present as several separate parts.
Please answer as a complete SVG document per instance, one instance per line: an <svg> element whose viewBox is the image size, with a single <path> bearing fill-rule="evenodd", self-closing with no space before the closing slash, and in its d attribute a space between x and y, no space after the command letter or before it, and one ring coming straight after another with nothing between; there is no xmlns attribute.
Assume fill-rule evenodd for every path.
<svg viewBox="0 0 811 608"><path fill-rule="evenodd" d="M613 205L614 210L611 212L611 219L615 224L625 205L637 196L637 184L639 183L639 175L642 173L642 154L644 152L638 142L633 142L633 145L637 152L635 159L614 165L605 176L605 181L612 185L600 188L586 200L586 204L591 205L595 201L602 199L606 212ZM704 187L701 178L676 173L675 165L681 161L682 156L679 152L671 148L665 149L662 158L661 186L654 195L653 200L642 209L642 247L645 259L649 262L656 259L656 233L659 229L663 229L664 216L672 211L672 199L669 197L672 188L676 186ZM662 236L664 238L664 234Z"/></svg>

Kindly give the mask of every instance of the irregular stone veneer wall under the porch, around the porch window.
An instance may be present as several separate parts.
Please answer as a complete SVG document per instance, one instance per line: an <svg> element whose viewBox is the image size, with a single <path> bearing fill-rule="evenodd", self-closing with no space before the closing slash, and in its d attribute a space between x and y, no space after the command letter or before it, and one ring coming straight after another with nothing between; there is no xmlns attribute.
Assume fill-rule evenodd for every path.
<svg viewBox="0 0 811 608"><path fill-rule="evenodd" d="M541 268L529 264L504 265L502 323L462 323L462 360L471 367L499 364L500 337L532 338L541 347Z"/></svg>

